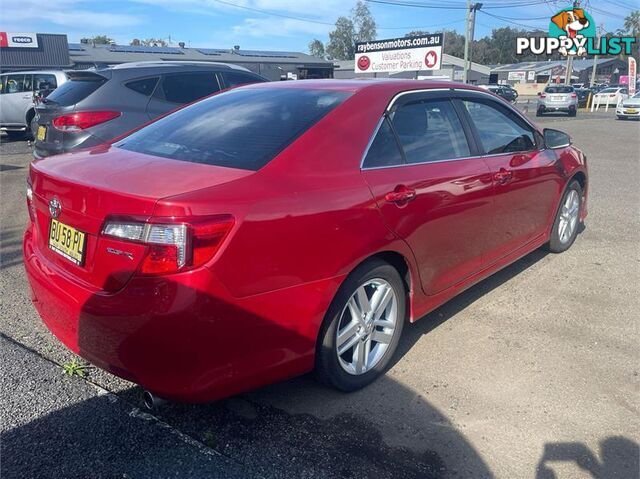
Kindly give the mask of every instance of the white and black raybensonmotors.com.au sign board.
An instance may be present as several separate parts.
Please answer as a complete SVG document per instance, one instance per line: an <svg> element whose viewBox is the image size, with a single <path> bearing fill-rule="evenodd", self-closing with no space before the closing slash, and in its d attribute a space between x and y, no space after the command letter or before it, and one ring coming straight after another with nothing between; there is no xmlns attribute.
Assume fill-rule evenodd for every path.
<svg viewBox="0 0 640 479"><path fill-rule="evenodd" d="M356 43L356 73L440 70L442 33Z"/></svg>

